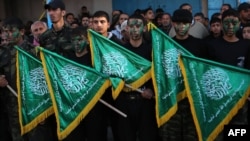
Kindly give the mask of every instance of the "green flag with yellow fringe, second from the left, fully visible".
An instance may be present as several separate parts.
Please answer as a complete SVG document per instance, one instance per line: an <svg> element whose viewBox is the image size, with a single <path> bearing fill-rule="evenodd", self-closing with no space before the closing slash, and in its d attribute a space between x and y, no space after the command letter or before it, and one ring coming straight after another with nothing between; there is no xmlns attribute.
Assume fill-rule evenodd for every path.
<svg viewBox="0 0 250 141"><path fill-rule="evenodd" d="M110 86L107 75L39 48L57 120L59 140L79 125Z"/></svg>

